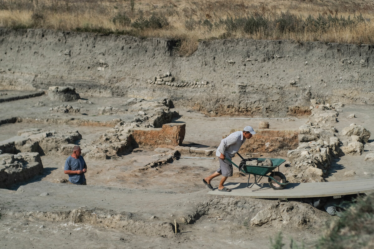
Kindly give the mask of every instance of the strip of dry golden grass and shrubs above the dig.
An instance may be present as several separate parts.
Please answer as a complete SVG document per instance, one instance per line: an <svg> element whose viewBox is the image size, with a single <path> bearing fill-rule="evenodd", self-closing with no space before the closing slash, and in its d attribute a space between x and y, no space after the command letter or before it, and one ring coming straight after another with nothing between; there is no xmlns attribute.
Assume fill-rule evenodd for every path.
<svg viewBox="0 0 374 249"><path fill-rule="evenodd" d="M281 20L285 12L286 18L300 19ZM354 20L360 14L363 19L349 25L318 26L313 30L301 25L309 15L314 19L350 16ZM254 24L250 23L245 29L239 18L251 16L267 20L267 26L252 30ZM2 27L178 39L180 53L184 55L193 53L199 40L222 38L370 44L374 40L373 17L371 0L0 0ZM290 21L296 27L282 27L283 22L288 25Z"/></svg>

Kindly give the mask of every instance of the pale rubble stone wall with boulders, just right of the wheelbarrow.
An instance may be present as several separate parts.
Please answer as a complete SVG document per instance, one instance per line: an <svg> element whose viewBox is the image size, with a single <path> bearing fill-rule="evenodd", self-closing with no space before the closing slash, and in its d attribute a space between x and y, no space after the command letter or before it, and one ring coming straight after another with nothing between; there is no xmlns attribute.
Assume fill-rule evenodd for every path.
<svg viewBox="0 0 374 249"><path fill-rule="evenodd" d="M299 145L287 153L291 167L286 169L285 175L291 182L319 182L324 181L331 165L332 157L344 154L361 155L363 143L367 142L371 133L356 124L346 127L338 133L331 123L337 122L338 107L322 101L311 100L312 114L309 122L299 128ZM342 146L347 140L347 146ZM348 141L350 143L348 144Z"/></svg>

